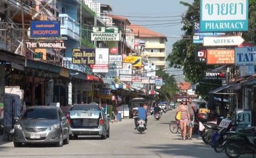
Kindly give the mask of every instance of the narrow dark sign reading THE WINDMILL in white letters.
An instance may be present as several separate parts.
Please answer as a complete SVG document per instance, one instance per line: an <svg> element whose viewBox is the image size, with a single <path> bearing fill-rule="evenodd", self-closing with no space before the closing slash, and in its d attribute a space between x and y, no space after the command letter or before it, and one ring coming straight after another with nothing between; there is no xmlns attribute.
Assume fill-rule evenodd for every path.
<svg viewBox="0 0 256 158"><path fill-rule="evenodd" d="M65 49L64 42L32 42L26 41L27 48L56 48Z"/></svg>

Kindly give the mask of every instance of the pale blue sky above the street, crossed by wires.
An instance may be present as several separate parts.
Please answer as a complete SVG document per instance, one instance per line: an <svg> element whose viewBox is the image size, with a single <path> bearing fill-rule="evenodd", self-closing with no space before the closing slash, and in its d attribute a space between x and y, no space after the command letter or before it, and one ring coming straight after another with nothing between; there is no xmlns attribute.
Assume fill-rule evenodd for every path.
<svg viewBox="0 0 256 158"><path fill-rule="evenodd" d="M179 0L96 0L94 2L109 4L113 10L112 14L130 16L127 19L131 23L167 36L167 53L170 53L172 44L182 35L179 16L187 10L187 7L179 4ZM184 0L184 2L192 3L193 0ZM182 74L182 71L173 69L169 72L176 75Z"/></svg>

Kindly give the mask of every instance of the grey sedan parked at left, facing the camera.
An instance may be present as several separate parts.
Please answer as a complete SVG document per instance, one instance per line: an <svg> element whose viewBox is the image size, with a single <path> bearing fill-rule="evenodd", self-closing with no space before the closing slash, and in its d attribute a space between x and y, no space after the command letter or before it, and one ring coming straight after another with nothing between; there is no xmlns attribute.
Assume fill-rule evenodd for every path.
<svg viewBox="0 0 256 158"><path fill-rule="evenodd" d="M14 147L23 143L69 144L69 124L57 106L31 106L21 118L14 118Z"/></svg>

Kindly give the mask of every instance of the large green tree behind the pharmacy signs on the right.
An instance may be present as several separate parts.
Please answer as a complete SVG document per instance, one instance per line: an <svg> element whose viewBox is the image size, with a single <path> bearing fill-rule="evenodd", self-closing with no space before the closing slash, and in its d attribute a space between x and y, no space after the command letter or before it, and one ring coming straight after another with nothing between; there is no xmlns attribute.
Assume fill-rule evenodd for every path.
<svg viewBox="0 0 256 158"><path fill-rule="evenodd" d="M193 22L200 20L200 0L194 0L193 4L187 2L180 2L182 5L188 7L187 11L182 14L182 39L173 44L172 53L167 57L170 62L170 67L183 68L187 80L196 84L203 79L203 72L213 69L216 66L206 65L205 63L196 63L195 49L199 44L193 44ZM249 31L243 34L246 41L256 41L256 0L249 0ZM216 84L219 81L204 82ZM200 84L197 86L196 93L202 97L208 96L208 91L216 88L214 85Z"/></svg>

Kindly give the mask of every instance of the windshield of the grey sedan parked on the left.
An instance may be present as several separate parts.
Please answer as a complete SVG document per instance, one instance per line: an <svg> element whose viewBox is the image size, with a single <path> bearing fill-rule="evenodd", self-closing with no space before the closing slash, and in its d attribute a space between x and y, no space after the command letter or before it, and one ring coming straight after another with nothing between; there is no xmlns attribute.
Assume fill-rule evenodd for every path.
<svg viewBox="0 0 256 158"><path fill-rule="evenodd" d="M57 120L57 110L54 108L33 108L27 109L21 119L47 119Z"/></svg>

